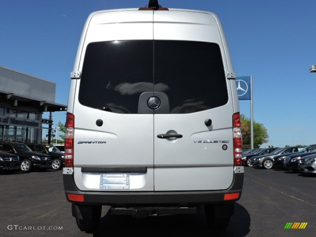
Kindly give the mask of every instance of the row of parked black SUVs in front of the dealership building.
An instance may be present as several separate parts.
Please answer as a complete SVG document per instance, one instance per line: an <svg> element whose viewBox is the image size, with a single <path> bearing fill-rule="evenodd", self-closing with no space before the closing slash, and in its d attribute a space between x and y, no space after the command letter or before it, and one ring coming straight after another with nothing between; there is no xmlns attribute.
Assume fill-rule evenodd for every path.
<svg viewBox="0 0 316 237"><path fill-rule="evenodd" d="M59 170L64 164L64 152L52 144L0 142L0 171Z"/></svg>

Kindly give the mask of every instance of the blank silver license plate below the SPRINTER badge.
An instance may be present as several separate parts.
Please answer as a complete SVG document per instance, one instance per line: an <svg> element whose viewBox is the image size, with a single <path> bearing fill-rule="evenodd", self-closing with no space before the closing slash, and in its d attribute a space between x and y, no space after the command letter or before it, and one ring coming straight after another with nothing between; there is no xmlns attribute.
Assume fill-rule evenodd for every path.
<svg viewBox="0 0 316 237"><path fill-rule="evenodd" d="M101 174L100 175L100 189L124 189L130 188L128 174Z"/></svg>

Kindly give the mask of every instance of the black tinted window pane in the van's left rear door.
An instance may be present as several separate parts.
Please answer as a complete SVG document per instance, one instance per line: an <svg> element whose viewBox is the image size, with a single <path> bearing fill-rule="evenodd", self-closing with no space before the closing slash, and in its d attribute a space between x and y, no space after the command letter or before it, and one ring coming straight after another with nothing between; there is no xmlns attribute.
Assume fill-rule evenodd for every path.
<svg viewBox="0 0 316 237"><path fill-rule="evenodd" d="M153 91L153 41L90 43L84 57L79 102L115 113L137 113L140 94Z"/></svg>

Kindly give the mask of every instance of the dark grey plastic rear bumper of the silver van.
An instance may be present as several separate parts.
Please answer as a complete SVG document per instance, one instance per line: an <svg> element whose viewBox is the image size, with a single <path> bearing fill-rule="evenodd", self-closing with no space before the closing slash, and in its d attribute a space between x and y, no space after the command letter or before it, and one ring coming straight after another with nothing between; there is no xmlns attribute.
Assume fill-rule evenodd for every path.
<svg viewBox="0 0 316 237"><path fill-rule="evenodd" d="M215 191L80 191L74 182L73 175L64 174L64 189L67 200L80 205L200 205L237 201L240 199L243 187L244 173L234 173L231 186L226 190ZM224 201L226 193L239 192L238 199ZM82 194L83 202L68 199L68 194Z"/></svg>

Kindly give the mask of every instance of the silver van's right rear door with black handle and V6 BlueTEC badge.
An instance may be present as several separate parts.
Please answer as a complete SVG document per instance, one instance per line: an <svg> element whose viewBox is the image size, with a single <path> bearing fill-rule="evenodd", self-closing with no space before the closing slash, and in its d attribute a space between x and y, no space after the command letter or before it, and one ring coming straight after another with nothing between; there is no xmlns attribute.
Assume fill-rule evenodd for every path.
<svg viewBox="0 0 316 237"><path fill-rule="evenodd" d="M154 12L154 96L161 99L154 115L155 191L232 183L233 100L223 41L213 15Z"/></svg>

